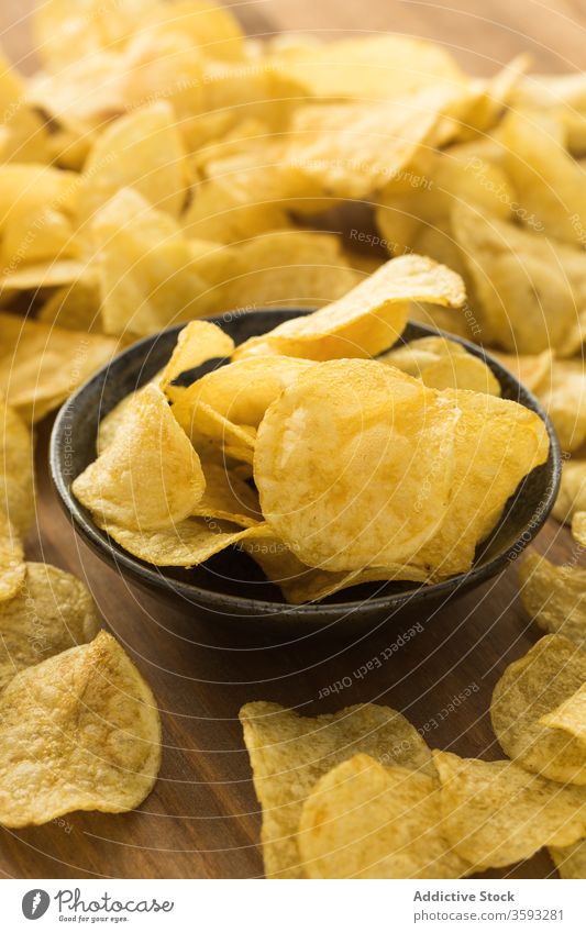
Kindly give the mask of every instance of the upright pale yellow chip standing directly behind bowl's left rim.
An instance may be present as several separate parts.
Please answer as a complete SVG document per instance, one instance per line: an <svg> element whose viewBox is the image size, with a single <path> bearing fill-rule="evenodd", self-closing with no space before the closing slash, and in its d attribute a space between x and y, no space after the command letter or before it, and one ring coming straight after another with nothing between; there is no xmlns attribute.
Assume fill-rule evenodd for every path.
<svg viewBox="0 0 586 933"><path fill-rule="evenodd" d="M177 223L137 191L124 188L98 211L92 234L107 333L146 336L209 310Z"/></svg>

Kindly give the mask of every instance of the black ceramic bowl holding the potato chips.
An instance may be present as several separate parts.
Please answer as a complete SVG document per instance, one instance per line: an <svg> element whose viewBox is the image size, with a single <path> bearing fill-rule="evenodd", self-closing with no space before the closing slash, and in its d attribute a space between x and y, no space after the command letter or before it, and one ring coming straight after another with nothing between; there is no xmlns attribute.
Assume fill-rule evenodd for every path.
<svg viewBox="0 0 586 933"><path fill-rule="evenodd" d="M281 321L305 311L266 310L212 318L236 344L272 330ZM434 586L408 582L369 584L343 590L320 603L288 606L280 590L264 578L257 565L243 552L229 548L204 565L185 570L157 568L132 557L93 523L89 512L71 495L71 482L96 458L99 421L129 392L148 381L166 363L180 330L172 327L134 344L101 369L64 404L51 440L51 471L55 488L74 527L111 566L163 601L179 603L185 613L240 629L272 625L295 633L318 630L364 632L368 626L402 617L424 618L440 603L463 590L494 577L517 558L535 536L555 501L560 484L560 447L551 423L537 399L497 360L478 346L458 341L475 356L485 359L498 381L502 397L538 412L551 440L546 464L534 469L509 499L498 526L477 548L473 568ZM422 324L410 323L402 342L436 334ZM452 340L458 340L452 337ZM258 627L255 626L255 627Z"/></svg>

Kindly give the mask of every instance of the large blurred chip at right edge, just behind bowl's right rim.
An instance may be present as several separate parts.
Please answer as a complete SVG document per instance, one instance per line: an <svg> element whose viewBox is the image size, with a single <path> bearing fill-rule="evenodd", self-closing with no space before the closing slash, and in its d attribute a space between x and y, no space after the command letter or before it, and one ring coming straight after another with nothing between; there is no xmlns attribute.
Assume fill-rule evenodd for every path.
<svg viewBox="0 0 586 933"><path fill-rule="evenodd" d="M483 337L511 353L574 353L582 343L584 251L490 215L452 211Z"/></svg>

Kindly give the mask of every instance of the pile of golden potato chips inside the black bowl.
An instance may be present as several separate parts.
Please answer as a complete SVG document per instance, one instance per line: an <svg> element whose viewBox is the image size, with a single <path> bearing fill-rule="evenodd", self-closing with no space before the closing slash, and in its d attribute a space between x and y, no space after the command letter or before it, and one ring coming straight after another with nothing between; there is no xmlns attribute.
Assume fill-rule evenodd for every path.
<svg viewBox="0 0 586 933"><path fill-rule="evenodd" d="M465 573L549 437L462 344L390 349L414 301L457 308L462 280L412 254L237 347L191 322L102 420L75 496L142 560L239 545L291 602Z"/></svg>

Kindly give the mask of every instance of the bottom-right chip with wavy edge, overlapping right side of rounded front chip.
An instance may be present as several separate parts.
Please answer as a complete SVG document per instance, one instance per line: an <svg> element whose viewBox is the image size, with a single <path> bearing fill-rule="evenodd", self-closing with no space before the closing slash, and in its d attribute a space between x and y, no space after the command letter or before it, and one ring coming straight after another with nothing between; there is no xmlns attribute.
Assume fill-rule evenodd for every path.
<svg viewBox="0 0 586 933"><path fill-rule="evenodd" d="M513 762L480 762L434 752L442 831L473 871L530 858L544 845L586 834L586 789L563 787Z"/></svg>

